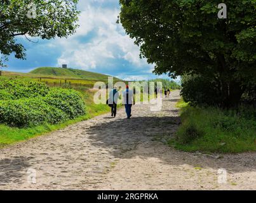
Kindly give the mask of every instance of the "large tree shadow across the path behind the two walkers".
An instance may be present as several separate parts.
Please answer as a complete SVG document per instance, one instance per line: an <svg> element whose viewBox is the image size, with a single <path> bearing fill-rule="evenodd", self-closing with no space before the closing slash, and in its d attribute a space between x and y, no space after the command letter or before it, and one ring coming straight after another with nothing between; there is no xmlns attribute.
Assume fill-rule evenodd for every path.
<svg viewBox="0 0 256 203"><path fill-rule="evenodd" d="M91 127L86 134L91 139L91 145L107 148L114 157L120 159L132 159L137 156L142 159L155 157L164 164L173 166L189 164L193 167L226 168L231 172L256 171L255 153L224 154L222 159L214 159L180 152L161 143L161 137L174 136L179 124L179 117L109 119ZM137 150L138 147L140 150Z"/></svg>

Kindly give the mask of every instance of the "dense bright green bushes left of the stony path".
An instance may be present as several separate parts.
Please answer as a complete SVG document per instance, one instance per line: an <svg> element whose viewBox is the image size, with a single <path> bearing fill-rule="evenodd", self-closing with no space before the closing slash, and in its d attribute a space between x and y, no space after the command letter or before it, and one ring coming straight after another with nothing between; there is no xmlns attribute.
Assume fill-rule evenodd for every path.
<svg viewBox="0 0 256 203"><path fill-rule="evenodd" d="M58 124L85 114L81 94L73 89L51 88L41 82L1 81L0 123L27 127ZM9 95L9 96L6 96Z"/></svg>

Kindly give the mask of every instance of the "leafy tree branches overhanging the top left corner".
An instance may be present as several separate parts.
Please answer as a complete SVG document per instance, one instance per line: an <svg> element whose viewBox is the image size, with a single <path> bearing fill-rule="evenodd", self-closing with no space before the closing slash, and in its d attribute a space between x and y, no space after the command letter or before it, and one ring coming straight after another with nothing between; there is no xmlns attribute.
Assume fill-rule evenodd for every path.
<svg viewBox="0 0 256 203"><path fill-rule="evenodd" d="M0 0L0 67L8 55L25 58L16 36L67 37L77 28L78 0Z"/></svg>

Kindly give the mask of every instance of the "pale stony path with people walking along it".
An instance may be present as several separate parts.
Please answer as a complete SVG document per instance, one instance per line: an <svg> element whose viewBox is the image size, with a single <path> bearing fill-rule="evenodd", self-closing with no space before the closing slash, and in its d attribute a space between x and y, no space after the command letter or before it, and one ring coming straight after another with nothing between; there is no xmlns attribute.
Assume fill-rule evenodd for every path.
<svg viewBox="0 0 256 203"><path fill-rule="evenodd" d="M121 109L1 149L0 190L255 190L256 153L215 159L165 145L180 123L177 100L175 91L161 112L135 105L131 120Z"/></svg>

